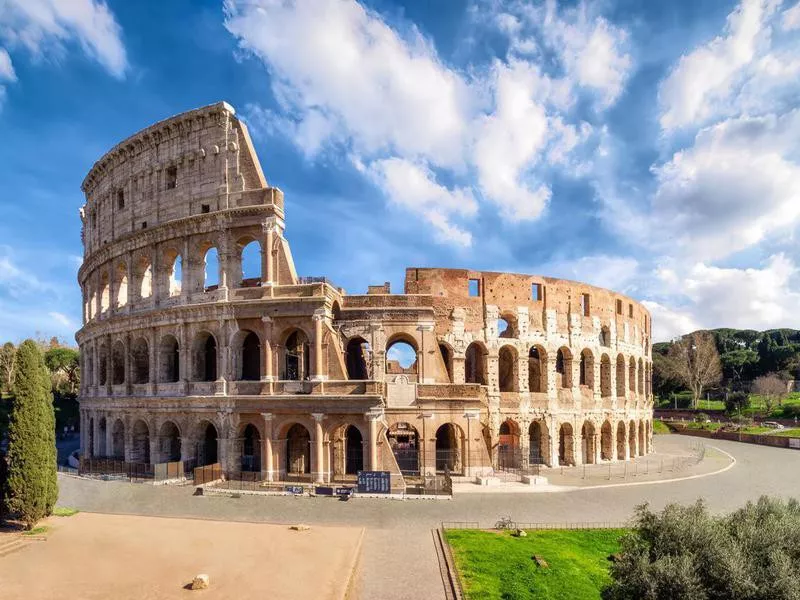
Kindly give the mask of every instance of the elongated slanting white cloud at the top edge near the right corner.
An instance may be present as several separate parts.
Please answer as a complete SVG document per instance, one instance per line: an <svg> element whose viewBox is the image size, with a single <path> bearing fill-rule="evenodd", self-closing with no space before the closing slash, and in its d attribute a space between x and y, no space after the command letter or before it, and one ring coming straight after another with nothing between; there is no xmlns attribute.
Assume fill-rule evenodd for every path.
<svg viewBox="0 0 800 600"><path fill-rule="evenodd" d="M728 15L725 32L681 57L659 88L661 127L698 125L727 111L758 52L770 41L770 17L778 2L742 0Z"/></svg>

